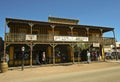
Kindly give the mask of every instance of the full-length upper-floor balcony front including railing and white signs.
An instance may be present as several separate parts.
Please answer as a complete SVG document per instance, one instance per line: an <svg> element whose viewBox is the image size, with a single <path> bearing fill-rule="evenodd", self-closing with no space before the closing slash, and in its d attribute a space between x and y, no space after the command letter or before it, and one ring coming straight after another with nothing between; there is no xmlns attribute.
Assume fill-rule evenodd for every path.
<svg viewBox="0 0 120 82"><path fill-rule="evenodd" d="M56 40L55 35L52 36L48 34L38 34L35 35L35 37L34 35L26 37L26 35L30 35L30 34L7 33L6 42L27 42L31 40L34 42L43 42L43 43L44 42L49 43L54 41L54 42L92 42L92 43L114 44L115 42L115 39L111 37L57 36L59 40L58 39Z"/></svg>

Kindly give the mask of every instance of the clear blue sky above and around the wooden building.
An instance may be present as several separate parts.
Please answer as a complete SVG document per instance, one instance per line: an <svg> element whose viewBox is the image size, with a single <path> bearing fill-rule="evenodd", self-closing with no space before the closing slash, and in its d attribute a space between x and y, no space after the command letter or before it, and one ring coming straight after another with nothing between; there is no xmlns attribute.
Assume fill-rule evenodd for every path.
<svg viewBox="0 0 120 82"><path fill-rule="evenodd" d="M0 36L4 36L6 17L47 21L48 16L115 28L116 39L120 41L120 0L0 0ZM113 33L104 37L113 37Z"/></svg>

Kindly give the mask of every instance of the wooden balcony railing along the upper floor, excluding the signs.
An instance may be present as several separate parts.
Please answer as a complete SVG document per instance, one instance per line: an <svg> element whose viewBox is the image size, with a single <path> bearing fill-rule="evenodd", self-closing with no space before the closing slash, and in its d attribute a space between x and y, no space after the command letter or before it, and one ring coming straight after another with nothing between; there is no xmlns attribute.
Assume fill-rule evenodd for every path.
<svg viewBox="0 0 120 82"><path fill-rule="evenodd" d="M26 35L29 35L29 34L7 33L6 34L6 42L26 42L26 41L30 41L30 40L26 40ZM55 41L53 35L38 34L38 35L36 35L36 37L37 37L36 40L34 40L35 42L52 42L52 41ZM68 36L68 37L71 37L71 36ZM83 36L74 36L74 37L83 37ZM64 42L70 42L70 41L64 41ZM78 41L76 41L76 42L78 42ZM82 41L80 41L80 42L82 42ZM115 39L111 38L111 37L93 37L93 36L90 36L90 37L88 37L88 42L103 43L103 44L114 44Z"/></svg>

